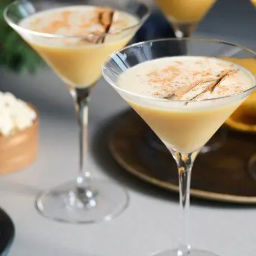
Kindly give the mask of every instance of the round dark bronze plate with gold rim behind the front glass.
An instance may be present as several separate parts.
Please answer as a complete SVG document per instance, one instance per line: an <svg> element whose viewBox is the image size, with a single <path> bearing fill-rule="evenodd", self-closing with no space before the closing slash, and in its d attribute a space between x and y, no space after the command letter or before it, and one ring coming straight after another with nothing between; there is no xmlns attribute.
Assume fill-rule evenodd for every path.
<svg viewBox="0 0 256 256"><path fill-rule="evenodd" d="M134 111L115 120L109 148L128 172L161 188L179 191L175 161ZM256 204L256 135L228 130L222 147L200 153L192 171L191 196Z"/></svg>

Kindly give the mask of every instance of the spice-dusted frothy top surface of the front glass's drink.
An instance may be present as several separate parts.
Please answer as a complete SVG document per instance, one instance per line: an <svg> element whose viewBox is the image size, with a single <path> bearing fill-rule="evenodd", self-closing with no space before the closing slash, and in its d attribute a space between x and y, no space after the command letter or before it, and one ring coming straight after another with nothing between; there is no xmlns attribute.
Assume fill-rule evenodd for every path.
<svg viewBox="0 0 256 256"><path fill-rule="evenodd" d="M118 84L148 97L202 100L243 92L252 86L252 77L229 61L182 56L136 65L119 77Z"/></svg>

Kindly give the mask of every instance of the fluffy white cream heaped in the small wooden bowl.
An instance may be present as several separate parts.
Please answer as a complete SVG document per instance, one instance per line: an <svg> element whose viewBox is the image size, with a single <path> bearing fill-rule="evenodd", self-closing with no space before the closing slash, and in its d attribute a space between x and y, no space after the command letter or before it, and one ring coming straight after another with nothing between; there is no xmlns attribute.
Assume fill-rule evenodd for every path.
<svg viewBox="0 0 256 256"><path fill-rule="evenodd" d="M36 112L12 93L0 92L0 135L8 136L33 125Z"/></svg>

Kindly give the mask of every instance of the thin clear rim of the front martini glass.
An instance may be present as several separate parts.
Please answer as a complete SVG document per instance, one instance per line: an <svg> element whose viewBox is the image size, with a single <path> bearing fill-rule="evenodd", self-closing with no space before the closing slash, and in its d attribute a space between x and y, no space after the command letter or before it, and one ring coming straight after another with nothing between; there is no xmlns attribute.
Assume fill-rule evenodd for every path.
<svg viewBox="0 0 256 256"><path fill-rule="evenodd" d="M150 43L154 43L154 42L162 42L162 41L198 41L198 42L209 42L209 43L215 43L215 44L224 44L224 45L230 45L230 46L233 46L233 47L239 47L240 49L244 50L244 51L247 51L247 52L250 52L252 54L254 54L256 56L256 52L253 51L252 49L249 49L248 47L244 47L243 45L239 45L239 44L233 44L231 42L227 42L227 41L224 41L224 40L219 40L219 39L208 39L208 38L194 38L194 37L190 37L190 38L161 38L161 39L154 39L154 40L147 40L147 41L143 41L143 42L138 42L136 44L131 44L131 45L128 45L118 51L115 51L115 52L112 52L104 61L103 61L103 64L102 64L102 76L104 77L104 79L109 83L111 84L111 86L113 86L113 88L115 88L117 91L120 91L120 92L124 92L128 95L131 95L131 96L136 96L136 97L140 97L142 99L147 99L147 100L156 100L158 102L180 102L180 103L196 103L196 102L207 102L209 100L221 100L221 99L228 99L230 97L237 97L239 95L243 95L245 94L246 92L250 92L250 90L253 90L253 89L256 89L256 78L255 76L252 74L252 72L250 72L250 70L248 70L247 68L244 68L246 69L246 71L248 71L248 73L253 77L253 86L242 91L242 92L238 92L238 93L234 93L234 94L231 94L231 95L226 95L226 96L222 96L222 97L218 97L218 98L211 98L211 99L199 99L199 100L173 100L173 99L159 99L159 98L155 98L155 97L150 97L150 96L144 96L144 95L140 95L138 93L133 93L133 92L129 92L128 90L125 90L125 89L122 89L118 86L116 86L115 84L113 84L110 79L108 79L108 77L106 77L106 74L104 72L104 68L107 68L106 67L106 64L111 60L113 59L113 56L116 56L118 53L122 53L124 52L125 50L127 49L131 49L132 47L137 47L138 45L143 45L143 44L150 44ZM199 56L199 55L198 55ZM163 57L164 58L164 57ZM216 58L216 57L213 57L213 58ZM137 64L138 65L138 64Z"/></svg>

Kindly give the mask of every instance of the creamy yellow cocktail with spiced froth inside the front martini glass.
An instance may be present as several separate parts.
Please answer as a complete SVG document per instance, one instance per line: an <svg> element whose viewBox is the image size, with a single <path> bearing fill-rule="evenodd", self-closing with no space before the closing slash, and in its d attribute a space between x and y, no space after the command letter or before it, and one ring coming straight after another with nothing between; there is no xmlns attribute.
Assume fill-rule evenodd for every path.
<svg viewBox="0 0 256 256"><path fill-rule="evenodd" d="M143 96L123 95L168 148L186 153L201 148L241 104L232 97L220 104L202 100L243 92L252 87L252 79L248 71L229 61L184 56L136 65L120 75L118 86Z"/></svg>

